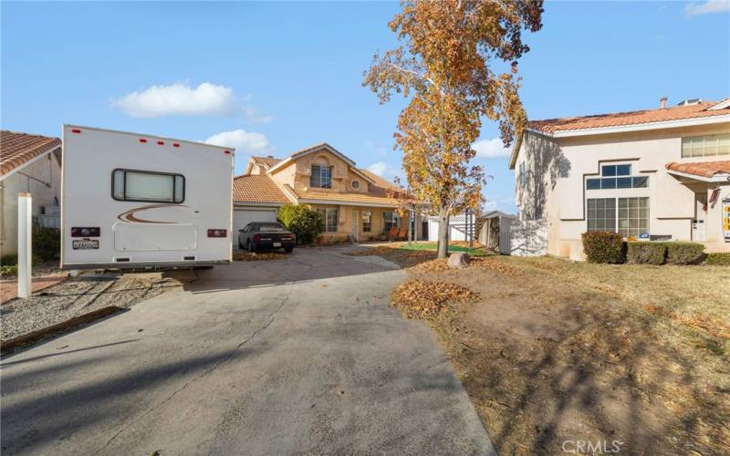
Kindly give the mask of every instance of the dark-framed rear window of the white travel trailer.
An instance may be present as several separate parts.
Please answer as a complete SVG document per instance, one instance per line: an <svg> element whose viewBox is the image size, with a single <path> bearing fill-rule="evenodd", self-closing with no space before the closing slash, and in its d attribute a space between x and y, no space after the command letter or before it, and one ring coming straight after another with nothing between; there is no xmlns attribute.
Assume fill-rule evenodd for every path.
<svg viewBox="0 0 730 456"><path fill-rule="evenodd" d="M158 171L116 169L111 174L111 197L117 201L185 201L185 177Z"/></svg>

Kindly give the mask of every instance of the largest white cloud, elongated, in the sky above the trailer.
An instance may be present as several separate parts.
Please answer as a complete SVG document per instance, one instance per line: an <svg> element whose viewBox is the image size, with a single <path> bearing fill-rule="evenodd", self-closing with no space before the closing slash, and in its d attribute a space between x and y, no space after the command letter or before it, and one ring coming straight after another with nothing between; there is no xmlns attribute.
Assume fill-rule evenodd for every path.
<svg viewBox="0 0 730 456"><path fill-rule="evenodd" d="M218 116L233 112L233 88L203 82L198 87L176 82L170 86L152 86L131 92L111 101L131 117Z"/></svg>

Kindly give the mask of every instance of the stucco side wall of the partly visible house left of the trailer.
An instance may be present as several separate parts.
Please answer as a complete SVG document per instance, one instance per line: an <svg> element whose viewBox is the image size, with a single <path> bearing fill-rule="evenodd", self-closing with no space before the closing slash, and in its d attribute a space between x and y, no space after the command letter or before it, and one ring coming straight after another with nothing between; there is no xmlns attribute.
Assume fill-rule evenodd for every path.
<svg viewBox="0 0 730 456"><path fill-rule="evenodd" d="M58 158L57 158L58 157ZM47 154L18 170L44 183L15 172L0 181L0 255L17 253L17 194L30 192L33 215L43 213L42 207L61 199L60 154Z"/></svg>

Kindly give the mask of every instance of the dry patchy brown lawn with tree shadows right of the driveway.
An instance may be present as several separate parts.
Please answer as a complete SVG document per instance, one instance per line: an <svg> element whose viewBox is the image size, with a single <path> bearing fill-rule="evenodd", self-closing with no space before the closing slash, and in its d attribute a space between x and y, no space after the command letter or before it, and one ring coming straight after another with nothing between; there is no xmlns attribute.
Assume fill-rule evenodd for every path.
<svg viewBox="0 0 730 456"><path fill-rule="evenodd" d="M426 322L500 454L730 454L730 268L373 253L480 296Z"/></svg>

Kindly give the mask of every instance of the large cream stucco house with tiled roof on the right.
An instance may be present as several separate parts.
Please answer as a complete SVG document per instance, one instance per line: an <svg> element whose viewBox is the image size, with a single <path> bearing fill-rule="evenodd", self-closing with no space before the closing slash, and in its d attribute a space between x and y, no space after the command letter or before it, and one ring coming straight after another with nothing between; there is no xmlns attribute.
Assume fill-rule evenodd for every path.
<svg viewBox="0 0 730 456"><path fill-rule="evenodd" d="M696 241L730 252L730 98L537 120L517 138L516 206L547 254L584 258L581 233Z"/></svg>

